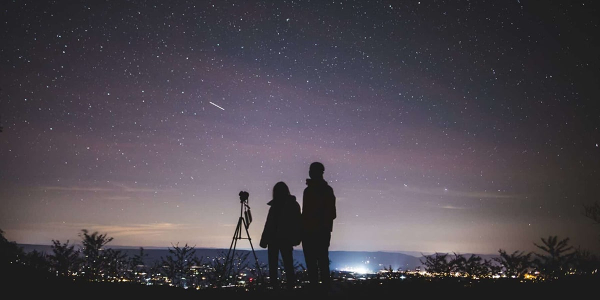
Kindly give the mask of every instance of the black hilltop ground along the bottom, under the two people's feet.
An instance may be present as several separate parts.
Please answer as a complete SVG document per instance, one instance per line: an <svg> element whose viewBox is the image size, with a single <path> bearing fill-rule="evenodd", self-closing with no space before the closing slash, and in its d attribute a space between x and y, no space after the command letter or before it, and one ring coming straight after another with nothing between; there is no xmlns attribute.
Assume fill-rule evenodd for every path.
<svg viewBox="0 0 600 300"><path fill-rule="evenodd" d="M16 287L16 286L9 286ZM588 283L478 283L458 282L389 282L389 283L335 283L332 290L310 291L304 287L293 290L227 288L191 290L168 286L142 286L129 283L61 283L32 284L14 289L10 295L38 297L40 295L78 295L78 298L131 298L136 299L373 299L373 298L450 298L450 299L595 299L598 282ZM27 298L26 298L27 299ZM310 299L313 300L313 299ZM316 299L315 299L316 300Z"/></svg>

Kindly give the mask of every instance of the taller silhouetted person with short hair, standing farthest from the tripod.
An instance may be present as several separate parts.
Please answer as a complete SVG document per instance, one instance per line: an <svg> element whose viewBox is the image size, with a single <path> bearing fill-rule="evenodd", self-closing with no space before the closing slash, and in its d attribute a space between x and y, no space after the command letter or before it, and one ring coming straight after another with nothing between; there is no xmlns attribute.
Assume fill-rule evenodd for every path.
<svg viewBox="0 0 600 300"><path fill-rule="evenodd" d="M320 277L329 289L329 242L336 213L334 190L323 179L324 172L322 163L310 164L302 195L302 250L311 287L318 287Z"/></svg>

